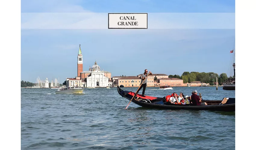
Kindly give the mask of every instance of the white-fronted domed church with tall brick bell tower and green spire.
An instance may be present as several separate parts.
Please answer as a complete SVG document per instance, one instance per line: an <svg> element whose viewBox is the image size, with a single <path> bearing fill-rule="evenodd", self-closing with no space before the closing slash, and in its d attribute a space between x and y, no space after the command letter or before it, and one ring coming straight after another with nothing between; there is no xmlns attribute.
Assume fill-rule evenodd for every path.
<svg viewBox="0 0 256 150"><path fill-rule="evenodd" d="M96 61L92 67L89 67L88 71L83 71L83 55L80 45L77 55L77 77L75 79L81 80L82 87L107 87L112 85L111 72L101 70Z"/></svg>

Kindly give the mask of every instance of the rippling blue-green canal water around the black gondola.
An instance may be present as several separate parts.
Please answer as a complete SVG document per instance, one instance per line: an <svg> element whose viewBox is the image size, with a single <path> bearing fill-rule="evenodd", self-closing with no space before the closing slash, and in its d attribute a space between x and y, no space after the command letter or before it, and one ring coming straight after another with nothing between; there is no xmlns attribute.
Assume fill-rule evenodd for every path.
<svg viewBox="0 0 256 150"><path fill-rule="evenodd" d="M190 96L196 89L205 100L235 98L235 91L218 88L148 87L145 95ZM21 149L235 149L235 112L158 110L132 102L124 110L129 100L117 88L57 95L56 90L21 88Z"/></svg>

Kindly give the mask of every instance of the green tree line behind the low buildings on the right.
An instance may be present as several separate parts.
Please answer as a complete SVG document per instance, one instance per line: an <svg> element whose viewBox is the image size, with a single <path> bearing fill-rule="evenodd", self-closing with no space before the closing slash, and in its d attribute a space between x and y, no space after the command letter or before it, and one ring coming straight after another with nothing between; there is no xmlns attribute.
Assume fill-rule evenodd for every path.
<svg viewBox="0 0 256 150"><path fill-rule="evenodd" d="M191 83L193 81L201 81L202 83L210 83L210 85L214 85L216 82L216 77L218 79L218 84L221 85L223 82L226 82L229 79L233 79L233 77L228 77L226 73L221 73L220 76L214 72L183 72L181 76L179 75L169 75L169 78L178 78L183 79L183 83ZM216 83L215 83L216 84Z"/></svg>

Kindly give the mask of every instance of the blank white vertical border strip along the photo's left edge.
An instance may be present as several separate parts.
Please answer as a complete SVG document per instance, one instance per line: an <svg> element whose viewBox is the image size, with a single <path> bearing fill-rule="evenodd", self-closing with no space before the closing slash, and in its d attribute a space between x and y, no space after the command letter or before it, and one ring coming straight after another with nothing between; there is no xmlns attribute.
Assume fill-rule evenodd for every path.
<svg viewBox="0 0 256 150"><path fill-rule="evenodd" d="M1 149L20 149L20 1L0 2ZM12 61L10 61L10 58ZM6 85L6 86L5 86ZM7 88L8 86L8 88Z"/></svg>

